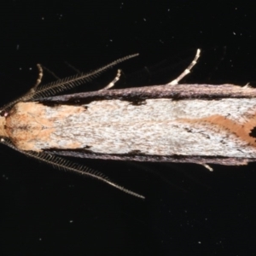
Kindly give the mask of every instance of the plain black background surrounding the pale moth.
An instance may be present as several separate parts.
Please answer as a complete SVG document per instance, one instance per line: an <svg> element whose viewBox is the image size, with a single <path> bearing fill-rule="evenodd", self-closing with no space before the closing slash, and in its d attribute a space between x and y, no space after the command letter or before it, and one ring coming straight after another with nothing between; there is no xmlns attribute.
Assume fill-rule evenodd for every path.
<svg viewBox="0 0 256 256"><path fill-rule="evenodd" d="M0 102L29 90L37 63L63 78L119 57L118 88L256 84L252 4L230 1L5 1ZM79 90L97 90L115 67ZM44 82L55 78L45 73ZM78 91L78 90L74 90ZM60 172L0 145L1 255L254 255L255 164L203 166L79 160L146 196Z"/></svg>

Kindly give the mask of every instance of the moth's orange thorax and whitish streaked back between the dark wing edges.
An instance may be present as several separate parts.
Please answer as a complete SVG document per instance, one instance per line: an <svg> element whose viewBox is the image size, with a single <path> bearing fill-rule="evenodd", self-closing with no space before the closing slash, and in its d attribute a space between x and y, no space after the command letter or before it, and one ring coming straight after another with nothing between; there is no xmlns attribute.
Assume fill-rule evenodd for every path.
<svg viewBox="0 0 256 256"><path fill-rule="evenodd" d="M255 158L255 112L256 98L149 98L139 105L113 98L81 106L19 102L2 117L2 127L15 147L36 152Z"/></svg>

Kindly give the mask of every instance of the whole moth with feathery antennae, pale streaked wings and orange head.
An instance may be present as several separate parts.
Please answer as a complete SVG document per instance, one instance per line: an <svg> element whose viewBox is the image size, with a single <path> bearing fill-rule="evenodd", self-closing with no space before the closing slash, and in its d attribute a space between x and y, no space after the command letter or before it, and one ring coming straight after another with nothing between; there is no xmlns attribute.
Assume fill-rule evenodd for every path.
<svg viewBox="0 0 256 256"><path fill-rule="evenodd" d="M178 84L200 56L168 84L53 96L84 84L136 55L41 85L1 109L1 143L56 168L95 177L130 195L100 172L62 156L102 160L246 165L256 160L256 89L234 84Z"/></svg>

